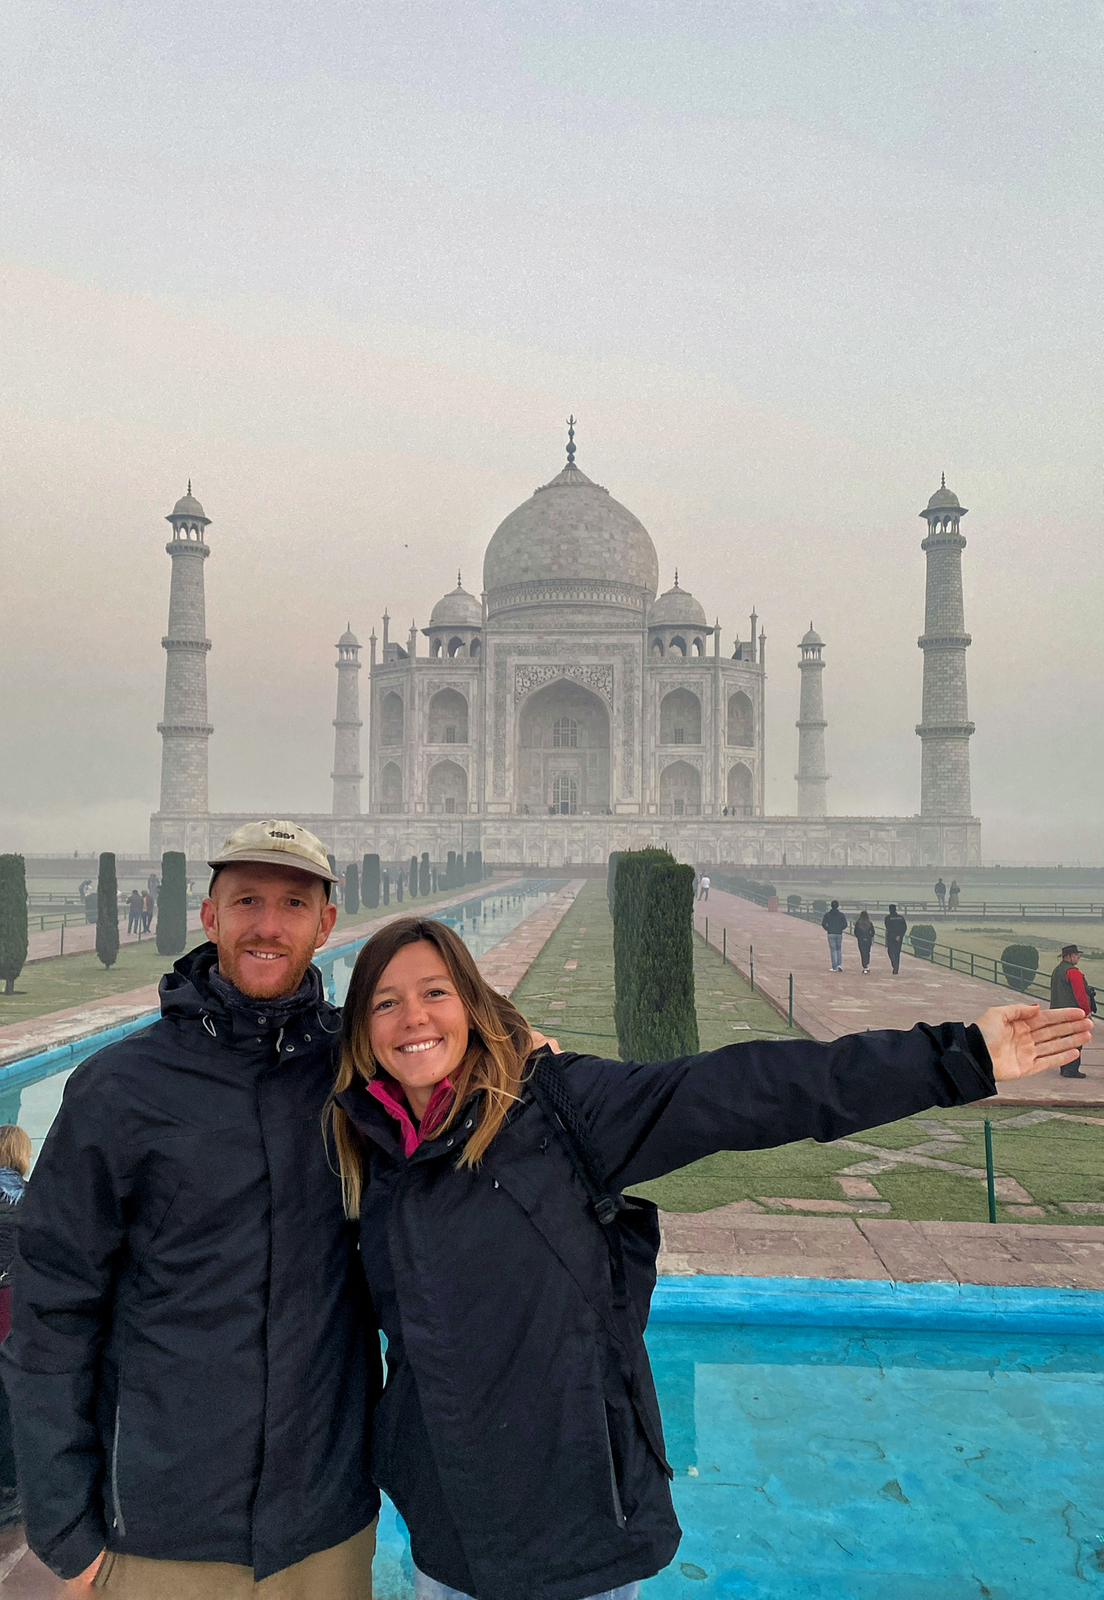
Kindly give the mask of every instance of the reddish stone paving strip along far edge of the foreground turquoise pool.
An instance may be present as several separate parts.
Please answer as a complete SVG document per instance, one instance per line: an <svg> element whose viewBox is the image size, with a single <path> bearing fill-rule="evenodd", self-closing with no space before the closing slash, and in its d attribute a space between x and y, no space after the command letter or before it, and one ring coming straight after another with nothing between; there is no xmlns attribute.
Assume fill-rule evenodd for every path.
<svg viewBox="0 0 1104 1600"><path fill-rule="evenodd" d="M1104 1229L664 1213L659 1270L678 1277L878 1278L1104 1290Z"/></svg>

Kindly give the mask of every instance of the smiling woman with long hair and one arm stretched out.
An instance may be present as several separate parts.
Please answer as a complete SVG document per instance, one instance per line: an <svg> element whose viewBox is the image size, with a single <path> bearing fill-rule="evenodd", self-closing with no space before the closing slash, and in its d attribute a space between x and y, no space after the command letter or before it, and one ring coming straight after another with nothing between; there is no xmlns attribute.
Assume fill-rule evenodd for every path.
<svg viewBox="0 0 1104 1600"><path fill-rule="evenodd" d="M600 1226L573 1112L546 1110L549 1074L621 1190L714 1150L981 1099L994 1072L1061 1066L1088 1037L1080 1013L1010 1006L830 1045L530 1061L525 1019L450 928L376 933L349 986L333 1120L387 1334L374 1472L419 1600L632 1600L678 1547L643 1346L654 1210L629 1202Z"/></svg>

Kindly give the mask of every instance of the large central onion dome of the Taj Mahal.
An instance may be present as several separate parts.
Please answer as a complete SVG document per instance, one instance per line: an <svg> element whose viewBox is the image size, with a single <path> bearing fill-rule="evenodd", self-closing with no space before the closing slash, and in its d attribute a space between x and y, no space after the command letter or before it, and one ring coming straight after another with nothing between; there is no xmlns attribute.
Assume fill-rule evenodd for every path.
<svg viewBox="0 0 1104 1600"><path fill-rule="evenodd" d="M483 557L490 613L558 603L642 611L658 582L645 525L573 462L510 512Z"/></svg>

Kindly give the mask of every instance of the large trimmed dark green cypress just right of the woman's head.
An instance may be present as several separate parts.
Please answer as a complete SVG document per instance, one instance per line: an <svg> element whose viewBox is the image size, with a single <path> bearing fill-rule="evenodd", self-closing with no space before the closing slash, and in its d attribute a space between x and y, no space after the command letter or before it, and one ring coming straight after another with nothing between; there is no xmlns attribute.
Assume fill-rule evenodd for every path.
<svg viewBox="0 0 1104 1600"><path fill-rule="evenodd" d="M650 861L637 891L629 1059L693 1056L698 1051L694 869L678 861Z"/></svg>

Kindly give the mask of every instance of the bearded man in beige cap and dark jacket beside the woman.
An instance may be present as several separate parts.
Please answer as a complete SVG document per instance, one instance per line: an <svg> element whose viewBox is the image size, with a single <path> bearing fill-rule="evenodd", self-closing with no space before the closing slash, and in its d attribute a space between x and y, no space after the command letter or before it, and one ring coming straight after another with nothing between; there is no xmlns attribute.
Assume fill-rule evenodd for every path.
<svg viewBox="0 0 1104 1600"><path fill-rule="evenodd" d="M322 843L250 822L162 1018L66 1085L5 1346L27 1539L74 1594L366 1600L374 1318L322 1115Z"/></svg>

